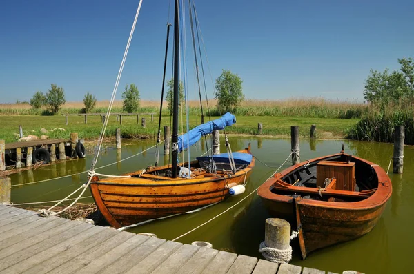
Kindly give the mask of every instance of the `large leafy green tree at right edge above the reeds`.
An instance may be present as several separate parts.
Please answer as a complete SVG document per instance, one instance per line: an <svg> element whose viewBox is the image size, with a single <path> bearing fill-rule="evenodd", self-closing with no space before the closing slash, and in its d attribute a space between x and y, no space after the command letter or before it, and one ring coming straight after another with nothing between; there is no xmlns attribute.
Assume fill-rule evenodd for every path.
<svg viewBox="0 0 414 274"><path fill-rule="evenodd" d="M414 97L414 62L411 57L398 59L401 71L370 70L364 84L364 98L369 102L387 103Z"/></svg>

